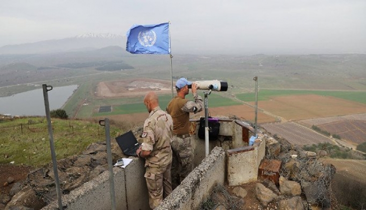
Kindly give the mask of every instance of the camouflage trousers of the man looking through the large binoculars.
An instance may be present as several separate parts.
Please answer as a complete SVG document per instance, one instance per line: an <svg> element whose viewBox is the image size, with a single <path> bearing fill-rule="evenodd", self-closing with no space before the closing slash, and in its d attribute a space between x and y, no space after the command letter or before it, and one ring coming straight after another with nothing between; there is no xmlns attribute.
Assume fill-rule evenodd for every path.
<svg viewBox="0 0 366 210"><path fill-rule="evenodd" d="M172 187L175 189L180 182L193 170L193 147L191 137L173 137Z"/></svg>

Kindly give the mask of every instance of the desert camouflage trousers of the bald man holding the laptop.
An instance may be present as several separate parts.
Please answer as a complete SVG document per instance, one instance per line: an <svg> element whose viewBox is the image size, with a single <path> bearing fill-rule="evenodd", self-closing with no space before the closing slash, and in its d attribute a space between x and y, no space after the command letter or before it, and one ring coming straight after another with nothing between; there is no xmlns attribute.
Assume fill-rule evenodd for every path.
<svg viewBox="0 0 366 210"><path fill-rule="evenodd" d="M167 165L164 173L154 173L154 168L146 167L144 176L149 192L149 205L152 209L172 192L171 166L172 163Z"/></svg>

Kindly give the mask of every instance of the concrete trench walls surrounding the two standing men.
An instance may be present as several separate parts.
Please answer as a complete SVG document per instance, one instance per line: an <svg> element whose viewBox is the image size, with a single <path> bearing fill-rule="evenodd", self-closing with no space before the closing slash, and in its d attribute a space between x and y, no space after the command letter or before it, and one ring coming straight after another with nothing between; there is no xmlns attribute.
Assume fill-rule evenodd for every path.
<svg viewBox="0 0 366 210"><path fill-rule="evenodd" d="M239 157L239 159L233 159L233 162L247 161L246 158L241 158L241 156L249 156L252 158L251 161L254 161L251 164L253 166L252 170L258 169L262 156L262 154L258 154L263 153L264 156L263 145L265 144L254 145L250 153L243 151L243 148L248 145L249 134L253 133L253 129L240 120L224 119L220 120L220 124L219 139L209 142L211 152L205 157L205 140L199 139L197 135L199 120L191 121L190 134L192 135L191 140L195 155L194 163L197 167L157 207L158 209L198 209L201 201L209 196L213 187L217 184L223 184L228 177L227 171L230 171L228 157L234 157L230 157L230 153L228 154L228 151L225 153L225 150L237 149L237 152L231 154ZM223 142L226 143L222 145ZM236 155L236 153L242 155ZM149 209L144 178L144 161L140 158L132 158L133 161L126 168L113 168L116 209ZM231 172L231 177L234 177L237 171ZM242 176L241 174L237 175ZM252 180L253 177L246 175L240 182ZM90 209L90 207L102 210L111 209L108 171L104 171L92 181L62 196L62 203L65 210ZM56 201L42 208L42 210L51 209L58 209Z"/></svg>

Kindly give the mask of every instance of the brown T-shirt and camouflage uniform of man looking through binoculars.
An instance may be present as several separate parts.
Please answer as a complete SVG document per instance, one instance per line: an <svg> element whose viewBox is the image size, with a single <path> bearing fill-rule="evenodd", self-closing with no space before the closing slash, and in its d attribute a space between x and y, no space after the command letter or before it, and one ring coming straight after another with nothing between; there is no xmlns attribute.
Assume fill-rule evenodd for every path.
<svg viewBox="0 0 366 210"><path fill-rule="evenodd" d="M172 185L173 189L193 170L193 147L189 136L189 113L198 112L203 109L203 100L197 93L193 94L195 101L176 96L173 98L166 110L173 118L172 140L173 162L172 162Z"/></svg>

